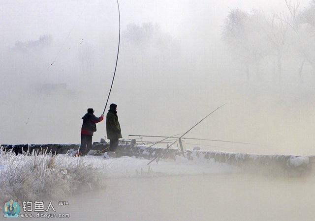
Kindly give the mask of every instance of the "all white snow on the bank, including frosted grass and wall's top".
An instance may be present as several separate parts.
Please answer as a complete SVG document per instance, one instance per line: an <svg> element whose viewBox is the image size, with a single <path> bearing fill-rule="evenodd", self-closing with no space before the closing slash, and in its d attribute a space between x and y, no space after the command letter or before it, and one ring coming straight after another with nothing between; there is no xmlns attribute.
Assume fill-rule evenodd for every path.
<svg viewBox="0 0 315 221"><path fill-rule="evenodd" d="M143 152L146 151L147 149L143 147ZM128 156L104 158L93 155L73 157L75 152L70 150L68 154L54 156L51 154L15 155L12 152L0 151L0 187L3 187L0 190L0 197L23 195L28 199L33 199L41 195L52 197L70 195L76 193L84 185L91 190L101 188L103 181L110 178L239 173L244 169L243 161L251 162L247 167L255 168L256 166L258 169L266 162L279 161L281 164L270 164L271 167L266 167L266 169L268 171L278 169L280 174L284 174L284 169L289 167L292 171L296 170L296 174L301 175L311 162L311 157L307 156L258 156L188 151L185 153L187 158L177 155L175 160L157 159L148 165L151 159ZM206 157L207 155L210 157ZM218 156L223 157L223 160L215 159ZM229 164L224 163L227 160ZM283 165L286 167L282 168ZM12 171L14 171L13 176Z"/></svg>

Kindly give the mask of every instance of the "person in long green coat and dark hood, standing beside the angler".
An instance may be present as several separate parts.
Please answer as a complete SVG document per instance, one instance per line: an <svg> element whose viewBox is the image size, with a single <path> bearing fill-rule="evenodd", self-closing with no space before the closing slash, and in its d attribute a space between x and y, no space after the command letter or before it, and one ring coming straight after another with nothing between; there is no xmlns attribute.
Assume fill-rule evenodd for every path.
<svg viewBox="0 0 315 221"><path fill-rule="evenodd" d="M122 137L122 131L117 116L117 105L111 104L106 115L106 132L110 140L109 151L115 152L118 146L118 139Z"/></svg>

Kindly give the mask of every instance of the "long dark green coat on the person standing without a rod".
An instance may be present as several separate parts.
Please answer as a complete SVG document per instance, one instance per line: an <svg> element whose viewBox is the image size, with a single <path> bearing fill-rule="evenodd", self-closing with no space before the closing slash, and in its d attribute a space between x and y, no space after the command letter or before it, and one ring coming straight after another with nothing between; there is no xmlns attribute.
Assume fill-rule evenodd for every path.
<svg viewBox="0 0 315 221"><path fill-rule="evenodd" d="M120 124L118 122L117 114L111 110L106 115L106 132L108 139L119 139L123 138L121 133Z"/></svg>

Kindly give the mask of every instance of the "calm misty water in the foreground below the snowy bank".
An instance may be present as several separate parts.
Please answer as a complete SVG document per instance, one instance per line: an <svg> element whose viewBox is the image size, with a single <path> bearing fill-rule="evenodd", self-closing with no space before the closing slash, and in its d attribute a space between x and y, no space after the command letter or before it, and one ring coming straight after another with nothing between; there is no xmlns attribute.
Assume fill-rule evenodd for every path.
<svg viewBox="0 0 315 221"><path fill-rule="evenodd" d="M76 221L313 221L314 183L249 174L110 178L106 189L56 209Z"/></svg>

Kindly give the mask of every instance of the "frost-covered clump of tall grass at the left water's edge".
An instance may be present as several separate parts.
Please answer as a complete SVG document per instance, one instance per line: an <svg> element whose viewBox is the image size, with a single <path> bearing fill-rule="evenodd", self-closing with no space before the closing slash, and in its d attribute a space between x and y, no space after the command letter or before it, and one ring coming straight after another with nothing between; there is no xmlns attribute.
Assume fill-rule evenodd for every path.
<svg viewBox="0 0 315 221"><path fill-rule="evenodd" d="M38 152L15 155L0 148L0 198L60 198L86 187L102 187L101 175L101 167L81 157Z"/></svg>

